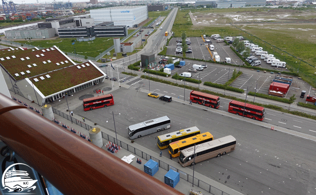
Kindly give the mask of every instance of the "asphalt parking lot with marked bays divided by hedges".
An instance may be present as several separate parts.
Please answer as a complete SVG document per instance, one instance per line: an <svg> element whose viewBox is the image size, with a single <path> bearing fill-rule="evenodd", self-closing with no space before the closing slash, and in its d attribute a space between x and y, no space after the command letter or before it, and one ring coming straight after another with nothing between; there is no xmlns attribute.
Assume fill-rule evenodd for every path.
<svg viewBox="0 0 316 195"><path fill-rule="evenodd" d="M176 40L180 38L173 38L169 42L169 46L167 49L167 55L174 55L179 56L180 60L182 60L182 54L176 54ZM190 37L188 38L191 40L191 47L193 53L186 53L186 57L189 58L198 58L198 59L211 59L211 55L209 54L206 46L204 45L203 39L201 37ZM201 62L201 61L194 61L194 60L185 60L185 66L182 68L175 68L171 75L175 73L181 74L183 72L188 72L189 69L192 69L193 64L206 64L208 67L203 71L197 71L196 73L192 73L192 78L200 79L202 82L210 81L213 83L218 84L225 84L229 79L231 79L234 69L238 72L243 72L243 74L237 78L230 86L240 88L240 89L247 89L248 91L255 92L257 90L258 93L268 94L269 86L272 83L272 80L276 76L275 73L271 74L270 72L263 72L257 70L249 70L243 69L243 61L230 49L230 45L226 45L225 42L216 43L216 40L211 38L210 39L212 44L214 45L214 51L220 56L220 61L224 61L226 57L231 58L231 64L239 65L238 67L230 67L225 66L223 64L216 64L216 63L209 63L209 62ZM260 59L260 55L256 55L255 52L251 52L252 55L258 57L261 60L262 64L259 67L265 69L275 70L276 68L271 67L271 64L267 64L263 59ZM280 61L283 61L280 59ZM286 69L276 69L281 71L286 71ZM287 77L292 77L289 75L283 75ZM303 80L298 79L297 77L293 77L293 83L288 91L288 93L284 96L285 98L289 98L293 94L295 94L296 99L299 102L304 102L306 100L306 96L304 99L300 98L300 93L302 90L306 90L306 94L315 95L316 90L312 89L310 85L308 85Z"/></svg>

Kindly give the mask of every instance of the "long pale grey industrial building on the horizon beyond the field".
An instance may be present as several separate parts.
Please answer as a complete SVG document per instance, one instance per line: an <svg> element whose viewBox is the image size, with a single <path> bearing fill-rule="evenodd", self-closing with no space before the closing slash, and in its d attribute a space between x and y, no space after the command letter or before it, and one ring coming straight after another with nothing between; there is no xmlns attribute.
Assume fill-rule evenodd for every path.
<svg viewBox="0 0 316 195"><path fill-rule="evenodd" d="M197 0L195 6L211 6L214 8L240 8L246 6L265 6L266 0Z"/></svg>

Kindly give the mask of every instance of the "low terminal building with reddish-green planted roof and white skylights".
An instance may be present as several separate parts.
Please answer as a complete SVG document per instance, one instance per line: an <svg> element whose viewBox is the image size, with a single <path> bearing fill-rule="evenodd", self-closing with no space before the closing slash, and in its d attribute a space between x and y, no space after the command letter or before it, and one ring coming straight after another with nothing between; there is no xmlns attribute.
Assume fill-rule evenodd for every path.
<svg viewBox="0 0 316 195"><path fill-rule="evenodd" d="M93 62L73 62L56 46L0 50L0 70L9 90L40 106L104 82Z"/></svg>

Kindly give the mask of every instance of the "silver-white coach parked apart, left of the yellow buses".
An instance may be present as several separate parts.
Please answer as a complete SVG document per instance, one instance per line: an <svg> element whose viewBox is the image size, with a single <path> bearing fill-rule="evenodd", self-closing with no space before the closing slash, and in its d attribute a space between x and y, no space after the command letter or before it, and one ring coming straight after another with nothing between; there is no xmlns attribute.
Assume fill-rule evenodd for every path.
<svg viewBox="0 0 316 195"><path fill-rule="evenodd" d="M147 120L138 124L133 124L129 126L129 137L130 139L140 138L148 134L153 134L155 132L164 131L170 128L170 118L168 116L163 116L160 118L155 118L152 120Z"/></svg>

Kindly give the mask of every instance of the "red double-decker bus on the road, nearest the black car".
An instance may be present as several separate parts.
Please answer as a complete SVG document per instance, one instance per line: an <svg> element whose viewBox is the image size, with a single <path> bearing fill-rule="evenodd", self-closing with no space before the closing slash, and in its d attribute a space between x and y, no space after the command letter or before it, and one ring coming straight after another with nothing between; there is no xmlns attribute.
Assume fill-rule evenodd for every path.
<svg viewBox="0 0 316 195"><path fill-rule="evenodd" d="M191 91L190 100L196 104L202 104L204 106L218 108L219 107L219 97L211 95L208 93L203 93L200 91Z"/></svg>

